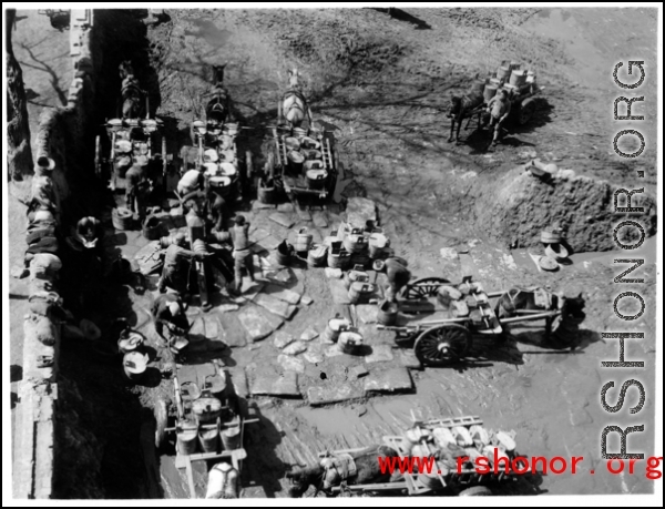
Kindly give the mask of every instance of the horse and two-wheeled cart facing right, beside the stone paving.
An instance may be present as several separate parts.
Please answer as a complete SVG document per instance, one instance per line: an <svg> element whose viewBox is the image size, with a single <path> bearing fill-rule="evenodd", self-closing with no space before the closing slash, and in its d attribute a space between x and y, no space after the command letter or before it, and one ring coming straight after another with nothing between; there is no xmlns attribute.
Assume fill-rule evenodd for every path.
<svg viewBox="0 0 665 509"><path fill-rule="evenodd" d="M418 279L407 285L400 297L400 318L406 323L377 327L395 330L398 344L413 342L413 352L426 366L446 366L463 359L473 335L500 338L505 325L532 320L545 320L549 335L556 332L563 318L569 318L570 301L561 294L545 288L487 293L470 277L460 284L438 277ZM412 316L424 313L437 316L424 320Z"/></svg>

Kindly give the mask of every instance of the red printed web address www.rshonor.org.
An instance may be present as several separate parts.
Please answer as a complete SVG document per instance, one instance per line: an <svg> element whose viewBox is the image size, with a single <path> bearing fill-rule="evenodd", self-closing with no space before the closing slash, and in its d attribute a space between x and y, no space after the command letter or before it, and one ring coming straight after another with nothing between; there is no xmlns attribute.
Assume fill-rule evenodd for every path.
<svg viewBox="0 0 665 509"><path fill-rule="evenodd" d="M379 456L379 470L381 474L413 474L413 472L426 472L432 474L432 470L436 467L436 460L433 457L382 457ZM518 456L515 458L509 459L507 457L498 457L494 454L494 458L487 458L484 456L479 456L473 460L473 470L477 474L565 474L569 471L571 474L579 474L577 466L581 461L584 460L583 456L573 456L570 461L566 461L565 458L561 456L554 456L550 460L543 456L532 456L531 458L526 458L525 456ZM622 459L611 459L606 462L607 471L611 474L622 474L625 470L625 474L635 474L635 465L641 460L631 459L630 461L624 461ZM645 477L651 480L661 479L663 474L659 470L661 462L663 461L662 456L652 456L646 460L646 469ZM469 470L470 458L467 456L461 456L457 458L457 474L461 474L463 470ZM438 471L436 474L442 474ZM589 470L589 474L593 475L594 470Z"/></svg>

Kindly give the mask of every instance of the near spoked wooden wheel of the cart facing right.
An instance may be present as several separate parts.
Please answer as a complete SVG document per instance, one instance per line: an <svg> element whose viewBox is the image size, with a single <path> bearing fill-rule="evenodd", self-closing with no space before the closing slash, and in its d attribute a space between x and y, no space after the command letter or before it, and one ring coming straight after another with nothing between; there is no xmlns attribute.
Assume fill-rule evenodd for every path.
<svg viewBox="0 0 665 509"><path fill-rule="evenodd" d="M413 345L416 357L426 366L444 366L462 358L471 347L471 333L457 324L427 329Z"/></svg>

